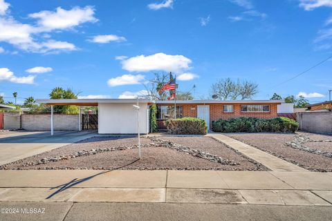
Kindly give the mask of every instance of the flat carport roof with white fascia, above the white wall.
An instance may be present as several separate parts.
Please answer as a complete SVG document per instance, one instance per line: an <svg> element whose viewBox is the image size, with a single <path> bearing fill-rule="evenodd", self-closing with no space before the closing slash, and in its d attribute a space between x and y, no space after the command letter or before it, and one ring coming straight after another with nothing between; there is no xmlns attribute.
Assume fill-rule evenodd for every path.
<svg viewBox="0 0 332 221"><path fill-rule="evenodd" d="M47 105L77 105L77 106L98 106L101 103L109 104L133 104L153 103L151 99L37 99L39 104Z"/></svg>

